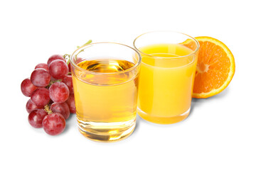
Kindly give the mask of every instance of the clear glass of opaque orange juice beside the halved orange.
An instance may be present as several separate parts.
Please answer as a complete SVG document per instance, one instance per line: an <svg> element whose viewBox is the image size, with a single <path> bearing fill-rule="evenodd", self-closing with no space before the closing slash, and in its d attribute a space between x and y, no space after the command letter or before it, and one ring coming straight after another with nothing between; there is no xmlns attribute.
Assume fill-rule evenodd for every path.
<svg viewBox="0 0 256 170"><path fill-rule="evenodd" d="M138 114L152 123L177 123L191 110L199 43L172 31L139 35L134 47L142 55Z"/></svg>

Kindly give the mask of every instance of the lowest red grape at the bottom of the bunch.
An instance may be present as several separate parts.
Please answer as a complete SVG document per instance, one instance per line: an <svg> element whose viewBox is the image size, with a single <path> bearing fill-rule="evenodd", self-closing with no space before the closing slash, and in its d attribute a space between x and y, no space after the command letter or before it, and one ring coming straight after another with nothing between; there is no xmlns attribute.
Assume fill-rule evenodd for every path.
<svg viewBox="0 0 256 170"><path fill-rule="evenodd" d="M43 130L48 135L59 135L65 129L65 118L60 113L52 113L43 118Z"/></svg>

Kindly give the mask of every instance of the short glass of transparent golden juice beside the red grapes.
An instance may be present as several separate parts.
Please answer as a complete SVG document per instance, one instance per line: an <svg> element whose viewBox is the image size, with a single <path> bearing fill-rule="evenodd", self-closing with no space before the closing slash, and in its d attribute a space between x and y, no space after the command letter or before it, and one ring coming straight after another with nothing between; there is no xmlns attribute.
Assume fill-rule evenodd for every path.
<svg viewBox="0 0 256 170"><path fill-rule="evenodd" d="M78 48L70 60L82 135L114 142L132 134L142 60L139 52L127 45L99 42Z"/></svg>

